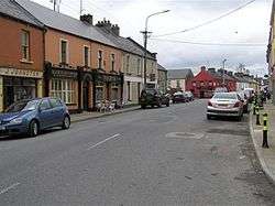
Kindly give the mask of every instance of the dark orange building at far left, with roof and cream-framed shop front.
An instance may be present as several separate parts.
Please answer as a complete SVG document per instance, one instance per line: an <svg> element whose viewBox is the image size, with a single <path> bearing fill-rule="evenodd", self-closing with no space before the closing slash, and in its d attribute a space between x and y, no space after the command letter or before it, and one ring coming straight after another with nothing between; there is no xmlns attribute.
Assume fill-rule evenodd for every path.
<svg viewBox="0 0 275 206"><path fill-rule="evenodd" d="M43 96L43 26L16 2L0 1L0 111Z"/></svg>

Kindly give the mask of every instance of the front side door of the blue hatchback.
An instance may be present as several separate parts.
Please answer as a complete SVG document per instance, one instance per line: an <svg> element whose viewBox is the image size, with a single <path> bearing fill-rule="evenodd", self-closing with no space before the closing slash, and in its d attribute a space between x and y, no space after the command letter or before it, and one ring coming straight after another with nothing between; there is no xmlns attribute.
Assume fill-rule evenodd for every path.
<svg viewBox="0 0 275 206"><path fill-rule="evenodd" d="M54 124L53 108L48 99L42 99L38 107L41 129L50 128Z"/></svg>

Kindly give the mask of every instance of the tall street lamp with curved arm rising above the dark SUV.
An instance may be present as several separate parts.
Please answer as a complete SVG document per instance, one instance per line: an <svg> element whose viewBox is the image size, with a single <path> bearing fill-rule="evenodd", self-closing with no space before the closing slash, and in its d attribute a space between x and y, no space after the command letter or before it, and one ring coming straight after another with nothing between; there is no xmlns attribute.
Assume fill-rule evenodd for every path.
<svg viewBox="0 0 275 206"><path fill-rule="evenodd" d="M143 33L143 35L144 35L144 61L143 61L143 67L144 67L144 88L146 87L146 82L147 82L147 79L146 79L146 74L147 74L147 72L146 72L146 68L147 68L147 39L148 39L148 31L147 31L147 29L148 29L148 19L151 18L151 17L153 17L153 15L158 15L158 14L162 14L162 13L166 13L166 12L169 12L170 10L164 10L164 11L160 11L160 12L156 12L156 13L152 13L152 14L150 14L147 18L146 18L146 20L145 20L145 30L143 31L143 32L141 32L141 33Z"/></svg>

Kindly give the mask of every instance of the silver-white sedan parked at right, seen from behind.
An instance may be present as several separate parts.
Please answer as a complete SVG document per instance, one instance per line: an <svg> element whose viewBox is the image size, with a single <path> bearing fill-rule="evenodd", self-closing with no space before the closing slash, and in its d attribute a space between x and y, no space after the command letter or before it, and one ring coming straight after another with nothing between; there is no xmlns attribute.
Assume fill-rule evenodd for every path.
<svg viewBox="0 0 275 206"><path fill-rule="evenodd" d="M238 93L216 93L208 101L207 119L211 117L237 117L243 116L243 102Z"/></svg>

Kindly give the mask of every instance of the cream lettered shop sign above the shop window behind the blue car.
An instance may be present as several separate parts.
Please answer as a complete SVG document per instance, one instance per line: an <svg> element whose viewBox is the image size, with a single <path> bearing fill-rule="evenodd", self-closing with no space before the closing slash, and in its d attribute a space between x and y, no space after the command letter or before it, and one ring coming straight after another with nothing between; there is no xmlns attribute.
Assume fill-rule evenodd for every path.
<svg viewBox="0 0 275 206"><path fill-rule="evenodd" d="M37 71L25 71L18 68L0 68L0 75L2 76L16 76L16 77L30 77L42 78L43 73Z"/></svg>

